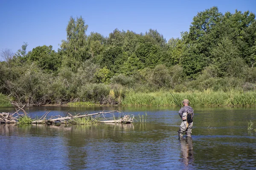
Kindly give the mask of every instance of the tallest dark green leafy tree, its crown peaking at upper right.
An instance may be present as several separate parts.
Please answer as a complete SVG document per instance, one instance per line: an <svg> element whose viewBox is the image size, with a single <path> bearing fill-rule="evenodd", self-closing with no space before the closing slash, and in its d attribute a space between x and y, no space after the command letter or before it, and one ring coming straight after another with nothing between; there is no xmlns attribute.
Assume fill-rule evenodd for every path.
<svg viewBox="0 0 256 170"><path fill-rule="evenodd" d="M218 42L220 31L215 28L222 17L217 7L198 12L193 18L189 33L183 35L186 50L180 64L190 78L195 78L204 67L212 63L211 50Z"/></svg>

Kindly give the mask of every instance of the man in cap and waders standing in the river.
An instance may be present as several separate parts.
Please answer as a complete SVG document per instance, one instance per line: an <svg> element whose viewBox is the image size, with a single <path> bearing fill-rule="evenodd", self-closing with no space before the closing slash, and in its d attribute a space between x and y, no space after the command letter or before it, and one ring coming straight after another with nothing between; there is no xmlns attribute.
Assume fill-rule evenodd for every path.
<svg viewBox="0 0 256 170"><path fill-rule="evenodd" d="M182 119L182 122L180 124L180 130L178 131L178 135L179 137L182 137L183 133L186 132L186 136L191 137L194 110L189 106L188 99L184 99L182 103L184 106L179 111L179 115Z"/></svg>

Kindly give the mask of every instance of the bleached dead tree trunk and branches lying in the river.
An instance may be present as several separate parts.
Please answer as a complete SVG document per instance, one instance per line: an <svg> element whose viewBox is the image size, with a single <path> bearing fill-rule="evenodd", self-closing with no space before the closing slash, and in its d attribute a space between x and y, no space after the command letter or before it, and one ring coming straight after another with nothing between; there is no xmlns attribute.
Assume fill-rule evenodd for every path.
<svg viewBox="0 0 256 170"><path fill-rule="evenodd" d="M23 116L27 116L28 113L26 113L26 111L23 109L24 106L22 108L20 108L19 105L17 105L17 103L14 104L17 108L19 108L19 110L17 110L16 108L16 112L15 113L0 113L0 123L18 123L18 119L17 117L23 117ZM19 114L18 111L23 111L24 114ZM96 120L99 116L104 116L104 114L107 113L114 113L114 112L118 112L119 111L109 111L109 112L99 112L99 113L92 113L92 114L84 114L84 115L80 115L77 114L75 116L71 115L70 113L66 113L66 116L62 117L60 115L58 116L51 116L51 117L47 117L48 114L50 113L50 111L47 111L40 119L38 120L34 120L32 121L32 124L55 124L58 122L61 123L65 123L65 124L70 124L70 122L72 122L73 124L76 124L76 121L74 119L78 119L78 118L83 118L83 117L87 117L87 116L94 116L97 115L93 120ZM14 117L14 115L17 115L16 117ZM101 120L99 121L100 123L122 123L122 124L128 124L128 123L132 123L134 119L134 116L130 116L130 115L124 115L122 116L121 119L117 119L117 120ZM93 121L92 120L92 121Z"/></svg>

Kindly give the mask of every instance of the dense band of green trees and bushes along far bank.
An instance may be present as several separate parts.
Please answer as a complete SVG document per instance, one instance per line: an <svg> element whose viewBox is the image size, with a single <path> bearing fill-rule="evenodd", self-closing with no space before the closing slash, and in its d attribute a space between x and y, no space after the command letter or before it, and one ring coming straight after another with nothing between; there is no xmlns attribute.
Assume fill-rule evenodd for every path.
<svg viewBox="0 0 256 170"><path fill-rule="evenodd" d="M256 89L256 20L245 11L198 12L181 38L157 30L137 34L117 28L108 37L70 17L67 39L15 54L1 51L0 93L27 105L91 101L118 104L129 91Z"/></svg>

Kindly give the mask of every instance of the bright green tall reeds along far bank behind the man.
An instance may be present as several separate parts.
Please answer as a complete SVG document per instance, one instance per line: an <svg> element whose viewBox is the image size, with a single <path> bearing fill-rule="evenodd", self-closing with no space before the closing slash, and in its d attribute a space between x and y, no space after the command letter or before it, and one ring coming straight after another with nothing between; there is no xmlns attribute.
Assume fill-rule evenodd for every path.
<svg viewBox="0 0 256 170"><path fill-rule="evenodd" d="M255 106L256 92L240 91L210 91L203 92L172 92L173 96L181 105L183 99L189 99L192 106ZM122 105L143 105L143 106L174 106L177 102L167 91L158 91L152 93L135 93L130 91L122 100Z"/></svg>

